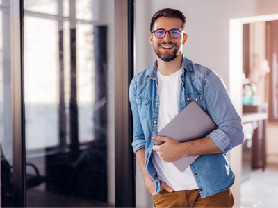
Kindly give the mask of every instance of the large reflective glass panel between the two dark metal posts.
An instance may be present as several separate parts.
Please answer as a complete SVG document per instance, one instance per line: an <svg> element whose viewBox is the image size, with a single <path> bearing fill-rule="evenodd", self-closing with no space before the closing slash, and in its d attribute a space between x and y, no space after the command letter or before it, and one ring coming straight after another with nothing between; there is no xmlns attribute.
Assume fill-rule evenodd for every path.
<svg viewBox="0 0 278 208"><path fill-rule="evenodd" d="M70 21L24 16L27 207L115 205L113 1L95 2L49 0L40 7L49 13L55 4ZM95 10L106 17L101 26L86 21ZM79 12L89 14L82 23Z"/></svg>

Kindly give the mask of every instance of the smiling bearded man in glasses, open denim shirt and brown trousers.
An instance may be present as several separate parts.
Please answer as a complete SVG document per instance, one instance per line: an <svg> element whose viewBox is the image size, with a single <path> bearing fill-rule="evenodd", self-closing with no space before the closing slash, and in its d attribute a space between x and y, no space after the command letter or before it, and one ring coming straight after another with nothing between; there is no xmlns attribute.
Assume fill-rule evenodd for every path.
<svg viewBox="0 0 278 208"><path fill-rule="evenodd" d="M150 26L149 42L157 60L131 81L133 151L154 198L154 207L232 207L231 171L226 153L243 143L240 116L231 103L221 78L211 69L188 60L186 17L173 9L159 10ZM191 101L211 116L218 129L207 137L179 143L156 137ZM184 125L190 119L184 121ZM152 139L163 141L154 145ZM200 155L180 172L172 162Z"/></svg>

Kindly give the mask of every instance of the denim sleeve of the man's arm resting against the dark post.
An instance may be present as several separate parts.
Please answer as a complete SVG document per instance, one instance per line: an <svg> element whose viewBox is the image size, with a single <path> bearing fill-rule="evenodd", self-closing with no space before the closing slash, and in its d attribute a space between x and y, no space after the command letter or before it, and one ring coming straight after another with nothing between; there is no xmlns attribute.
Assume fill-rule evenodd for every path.
<svg viewBox="0 0 278 208"><path fill-rule="evenodd" d="M140 122L138 105L136 103L136 90L134 78L133 80L131 80L131 84L129 86L129 101L131 103L131 111L133 117L133 142L131 145L133 148L133 152L136 153L141 148L145 148L146 140Z"/></svg>

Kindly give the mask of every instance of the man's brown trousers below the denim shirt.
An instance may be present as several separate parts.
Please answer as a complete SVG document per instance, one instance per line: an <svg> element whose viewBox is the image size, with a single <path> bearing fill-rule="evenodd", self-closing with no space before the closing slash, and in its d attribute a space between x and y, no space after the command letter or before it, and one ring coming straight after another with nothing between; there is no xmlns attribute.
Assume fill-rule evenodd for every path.
<svg viewBox="0 0 278 208"><path fill-rule="evenodd" d="M201 198L198 189L172 193L163 189L153 198L153 207L233 207L234 205L231 188L206 198Z"/></svg>

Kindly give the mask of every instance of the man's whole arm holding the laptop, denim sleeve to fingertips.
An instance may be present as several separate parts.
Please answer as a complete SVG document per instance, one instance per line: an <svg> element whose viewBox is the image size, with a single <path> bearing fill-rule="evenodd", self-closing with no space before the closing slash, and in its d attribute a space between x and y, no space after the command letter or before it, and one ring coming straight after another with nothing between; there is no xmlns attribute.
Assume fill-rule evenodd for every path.
<svg viewBox="0 0 278 208"><path fill-rule="evenodd" d="M218 125L218 129L202 139L184 143L169 137L154 137L154 140L164 142L160 146L155 145L153 150L164 158L165 162L174 162L190 155L227 153L243 143L243 125L240 116L231 103L222 79L214 71L208 74L203 97L206 111Z"/></svg>

